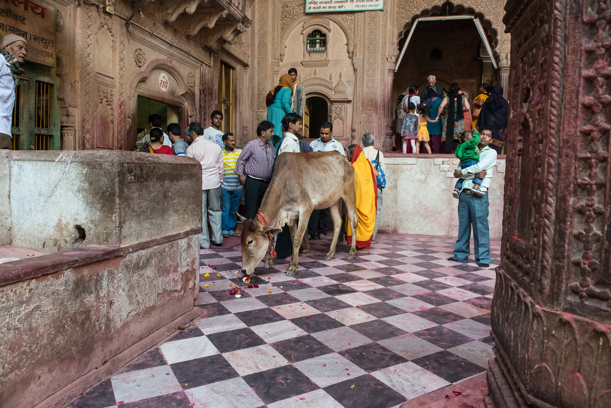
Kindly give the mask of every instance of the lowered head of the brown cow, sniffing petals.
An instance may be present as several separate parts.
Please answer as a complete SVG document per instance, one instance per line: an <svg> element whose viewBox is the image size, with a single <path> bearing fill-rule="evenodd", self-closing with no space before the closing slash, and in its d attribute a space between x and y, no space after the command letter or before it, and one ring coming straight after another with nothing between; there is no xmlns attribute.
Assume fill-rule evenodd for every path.
<svg viewBox="0 0 611 408"><path fill-rule="evenodd" d="M269 250L269 235L282 231L280 228L263 227L260 221L246 219L237 214L238 219L244 224L244 230L240 236L242 241L242 273L251 275L255 267L265 257ZM265 264L268 266L268 263Z"/></svg>

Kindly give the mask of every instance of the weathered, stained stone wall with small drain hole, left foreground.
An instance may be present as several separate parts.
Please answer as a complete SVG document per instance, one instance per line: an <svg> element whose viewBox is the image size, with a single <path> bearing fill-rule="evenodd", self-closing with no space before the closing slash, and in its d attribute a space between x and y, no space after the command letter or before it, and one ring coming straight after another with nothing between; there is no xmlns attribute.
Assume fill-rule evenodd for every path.
<svg viewBox="0 0 611 408"><path fill-rule="evenodd" d="M4 150L0 166L1 243L47 253L0 265L0 406L63 406L200 313L199 162Z"/></svg>

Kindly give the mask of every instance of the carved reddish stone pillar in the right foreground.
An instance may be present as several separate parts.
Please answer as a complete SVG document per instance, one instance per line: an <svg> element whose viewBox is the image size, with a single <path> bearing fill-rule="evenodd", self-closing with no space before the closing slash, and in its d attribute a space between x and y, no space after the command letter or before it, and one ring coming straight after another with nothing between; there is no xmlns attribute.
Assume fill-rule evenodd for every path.
<svg viewBox="0 0 611 408"><path fill-rule="evenodd" d="M511 115L488 368L497 408L611 407L610 9L505 6Z"/></svg>

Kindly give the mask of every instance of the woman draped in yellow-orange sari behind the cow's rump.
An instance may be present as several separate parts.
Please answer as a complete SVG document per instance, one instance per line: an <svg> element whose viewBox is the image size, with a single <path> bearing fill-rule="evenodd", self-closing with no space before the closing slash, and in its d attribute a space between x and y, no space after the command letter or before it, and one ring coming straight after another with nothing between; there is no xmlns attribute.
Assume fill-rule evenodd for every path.
<svg viewBox="0 0 611 408"><path fill-rule="evenodd" d="M346 221L346 241L352 244L353 235L356 238L356 251L369 253L373 228L376 225L376 206L378 203L378 172L371 166L365 153L359 145L348 146L348 160L354 167L354 189L356 190L356 213L359 215L359 224L356 233L350 229L350 222Z"/></svg>

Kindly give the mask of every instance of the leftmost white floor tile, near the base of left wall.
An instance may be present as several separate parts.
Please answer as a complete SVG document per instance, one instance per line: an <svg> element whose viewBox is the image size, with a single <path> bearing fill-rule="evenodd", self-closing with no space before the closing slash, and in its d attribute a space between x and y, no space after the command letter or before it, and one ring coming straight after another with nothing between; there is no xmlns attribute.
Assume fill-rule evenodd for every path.
<svg viewBox="0 0 611 408"><path fill-rule="evenodd" d="M119 374L111 383L116 401L125 403L182 390L168 365Z"/></svg>

